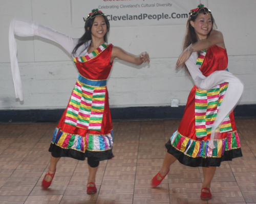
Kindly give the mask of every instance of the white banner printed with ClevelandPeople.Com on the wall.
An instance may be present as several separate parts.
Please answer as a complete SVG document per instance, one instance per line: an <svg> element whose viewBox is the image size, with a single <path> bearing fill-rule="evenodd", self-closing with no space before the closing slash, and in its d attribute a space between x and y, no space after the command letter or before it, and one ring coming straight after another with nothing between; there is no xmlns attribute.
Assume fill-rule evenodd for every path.
<svg viewBox="0 0 256 204"><path fill-rule="evenodd" d="M83 28L93 9L106 14L111 27L185 24L200 0L71 0L72 28Z"/></svg>

